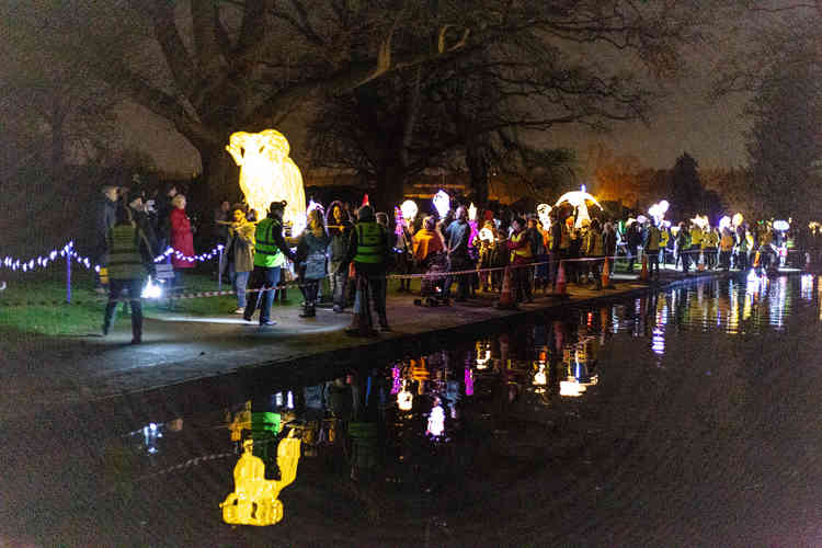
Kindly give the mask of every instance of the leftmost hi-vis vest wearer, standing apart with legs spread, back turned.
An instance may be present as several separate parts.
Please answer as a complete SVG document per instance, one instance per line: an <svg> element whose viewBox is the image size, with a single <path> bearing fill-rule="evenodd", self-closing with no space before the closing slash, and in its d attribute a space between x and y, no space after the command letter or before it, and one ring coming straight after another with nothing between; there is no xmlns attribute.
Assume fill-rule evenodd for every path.
<svg viewBox="0 0 822 548"><path fill-rule="evenodd" d="M132 218L125 205L117 207L114 225L109 229L109 302L103 313L103 335L107 335L117 309L117 299L124 290L132 308L132 344L142 342L142 284L152 264L155 250Z"/></svg>

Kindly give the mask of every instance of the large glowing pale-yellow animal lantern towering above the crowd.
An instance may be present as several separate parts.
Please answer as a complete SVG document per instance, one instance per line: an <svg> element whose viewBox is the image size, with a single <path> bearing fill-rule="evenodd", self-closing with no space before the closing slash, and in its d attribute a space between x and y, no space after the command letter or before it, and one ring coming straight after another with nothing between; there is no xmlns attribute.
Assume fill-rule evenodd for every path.
<svg viewBox="0 0 822 548"><path fill-rule="evenodd" d="M231 134L226 147L240 167L240 190L246 203L256 212L267 212L278 199L287 202L286 222L299 222L306 215L306 193L299 168L289 158L288 140L274 129L259 134Z"/></svg>

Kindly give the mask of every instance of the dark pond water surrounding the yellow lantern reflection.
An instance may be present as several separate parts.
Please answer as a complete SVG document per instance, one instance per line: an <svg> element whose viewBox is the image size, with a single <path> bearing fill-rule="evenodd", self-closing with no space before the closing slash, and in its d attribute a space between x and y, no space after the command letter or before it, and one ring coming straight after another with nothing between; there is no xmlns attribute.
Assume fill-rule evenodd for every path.
<svg viewBox="0 0 822 548"><path fill-rule="evenodd" d="M716 281L173 420L52 418L3 434L0 545L822 545L820 295ZM286 436L283 521L225 524L243 441L276 479Z"/></svg>

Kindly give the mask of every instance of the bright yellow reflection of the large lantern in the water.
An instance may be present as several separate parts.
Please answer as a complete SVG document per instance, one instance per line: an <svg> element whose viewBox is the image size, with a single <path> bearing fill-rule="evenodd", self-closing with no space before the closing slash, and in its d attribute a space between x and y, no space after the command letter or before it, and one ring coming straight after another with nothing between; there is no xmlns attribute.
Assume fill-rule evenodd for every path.
<svg viewBox="0 0 822 548"><path fill-rule="evenodd" d="M265 479L265 464L252 454L253 442L246 441L235 466L235 491L220 504L222 521L237 525L274 525L283 520L279 491L297 478L300 441L286 437L277 446L278 480Z"/></svg>

